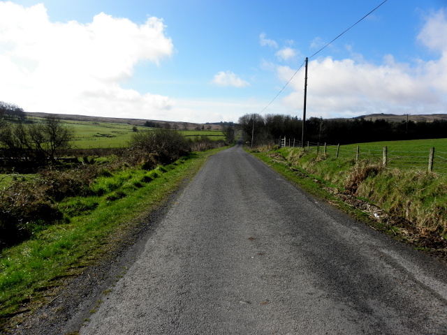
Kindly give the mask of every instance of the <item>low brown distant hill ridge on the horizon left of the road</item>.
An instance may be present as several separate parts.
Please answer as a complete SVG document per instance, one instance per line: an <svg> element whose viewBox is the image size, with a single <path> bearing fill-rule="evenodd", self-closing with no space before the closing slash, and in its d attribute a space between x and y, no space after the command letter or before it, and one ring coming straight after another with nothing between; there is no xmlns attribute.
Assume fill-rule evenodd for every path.
<svg viewBox="0 0 447 335"><path fill-rule="evenodd" d="M50 115L50 113L43 112L25 112L27 117L46 117ZM179 129L184 128L184 124L188 129L194 129L197 126L200 128L205 126L205 129L208 126L212 126L212 129L220 129L219 123L214 124L195 124L191 122L181 122L181 121L161 121L161 120L152 120L152 119L126 119L119 117L89 117L87 115L70 115L70 114L51 114L57 116L61 120L69 120L69 121L91 121L91 122L112 122L117 124L130 124L132 126L144 126L146 121L153 121L159 124L170 124L171 128L173 128L174 124L177 124Z"/></svg>

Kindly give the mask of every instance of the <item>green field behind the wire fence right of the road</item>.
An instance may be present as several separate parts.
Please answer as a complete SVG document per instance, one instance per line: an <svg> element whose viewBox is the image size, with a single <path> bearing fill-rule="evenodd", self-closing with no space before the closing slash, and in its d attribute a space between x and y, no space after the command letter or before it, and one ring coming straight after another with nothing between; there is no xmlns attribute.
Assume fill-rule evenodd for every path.
<svg viewBox="0 0 447 335"><path fill-rule="evenodd" d="M357 147L359 158L383 158L383 147L388 149L388 166L399 169L428 168L430 148L434 147L434 172L447 173L447 139L409 140L392 142L372 142L341 145L339 158L356 158ZM313 148L314 150L315 148ZM323 152L323 146L320 147ZM337 146L328 146L327 154L335 156Z"/></svg>

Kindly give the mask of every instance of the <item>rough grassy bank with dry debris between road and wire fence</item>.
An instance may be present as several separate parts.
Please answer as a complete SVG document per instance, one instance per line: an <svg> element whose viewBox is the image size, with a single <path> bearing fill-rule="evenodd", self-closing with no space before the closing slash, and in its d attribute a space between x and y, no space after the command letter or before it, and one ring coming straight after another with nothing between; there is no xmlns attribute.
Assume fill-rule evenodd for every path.
<svg viewBox="0 0 447 335"><path fill-rule="evenodd" d="M335 159L302 149L252 152L306 192L375 230L447 259L446 177L384 168L380 162Z"/></svg>

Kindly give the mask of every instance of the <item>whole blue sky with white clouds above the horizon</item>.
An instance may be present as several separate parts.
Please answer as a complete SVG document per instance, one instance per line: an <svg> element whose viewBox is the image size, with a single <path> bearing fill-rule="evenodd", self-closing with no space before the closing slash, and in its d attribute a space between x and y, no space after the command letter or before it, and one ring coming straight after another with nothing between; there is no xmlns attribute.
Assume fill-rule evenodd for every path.
<svg viewBox="0 0 447 335"><path fill-rule="evenodd" d="M447 113L447 0L0 0L0 101L27 112L302 118L306 57L307 118Z"/></svg>

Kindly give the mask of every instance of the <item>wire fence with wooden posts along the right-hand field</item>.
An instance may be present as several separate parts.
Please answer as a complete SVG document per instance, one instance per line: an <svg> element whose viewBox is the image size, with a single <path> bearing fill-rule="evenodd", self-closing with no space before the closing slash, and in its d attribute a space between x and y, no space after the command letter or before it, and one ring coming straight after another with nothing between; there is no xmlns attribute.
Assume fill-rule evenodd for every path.
<svg viewBox="0 0 447 335"><path fill-rule="evenodd" d="M276 143L280 147L301 147L301 141L277 139ZM316 154L329 155L335 158L353 158L356 161L362 158L376 159L383 165L392 168L406 169L427 169L440 174L447 174L447 152L438 151L434 147L418 151L406 151L383 147L383 149L373 149L360 145L346 144L341 146L328 145L326 143L305 142L304 148L307 151L316 151Z"/></svg>

